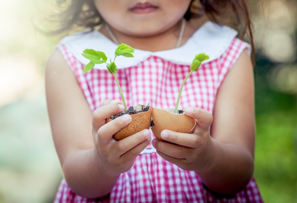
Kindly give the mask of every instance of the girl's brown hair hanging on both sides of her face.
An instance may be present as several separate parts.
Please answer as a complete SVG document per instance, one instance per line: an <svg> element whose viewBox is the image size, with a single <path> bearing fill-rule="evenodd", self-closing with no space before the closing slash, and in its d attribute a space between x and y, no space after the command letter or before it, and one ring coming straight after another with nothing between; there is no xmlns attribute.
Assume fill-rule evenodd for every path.
<svg viewBox="0 0 297 203"><path fill-rule="evenodd" d="M54 21L58 23L57 29L47 34L57 35L72 31L75 28L96 29L104 21L101 18L94 0L55 0L61 12L55 15ZM185 13L185 19L207 15L208 18L220 25L227 25L239 32L239 38L249 38L254 50L251 29L249 0L191 0L191 5Z"/></svg>

